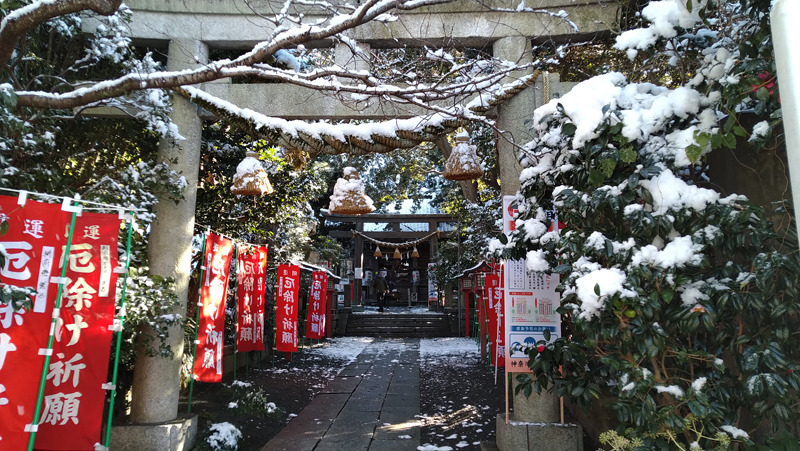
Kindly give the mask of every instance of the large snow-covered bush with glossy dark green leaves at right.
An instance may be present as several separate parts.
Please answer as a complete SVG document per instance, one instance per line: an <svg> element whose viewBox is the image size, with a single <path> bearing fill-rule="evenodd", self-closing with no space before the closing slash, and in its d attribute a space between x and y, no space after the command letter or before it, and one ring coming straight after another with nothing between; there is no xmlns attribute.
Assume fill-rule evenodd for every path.
<svg viewBox="0 0 800 451"><path fill-rule="evenodd" d="M650 2L653 25L617 41L667 43L679 56L702 36L690 82L608 73L534 113L504 252L562 274L567 338L531 348L534 374L520 388L555 386L584 406L610 396L618 432L647 449L750 445L749 434L796 446L786 429L799 413L797 242L776 233L772 212L716 191L706 162L736 136L763 142L779 125L763 75L774 73L769 2L695 3ZM769 130L743 128L743 111ZM560 235L547 231L553 208Z"/></svg>

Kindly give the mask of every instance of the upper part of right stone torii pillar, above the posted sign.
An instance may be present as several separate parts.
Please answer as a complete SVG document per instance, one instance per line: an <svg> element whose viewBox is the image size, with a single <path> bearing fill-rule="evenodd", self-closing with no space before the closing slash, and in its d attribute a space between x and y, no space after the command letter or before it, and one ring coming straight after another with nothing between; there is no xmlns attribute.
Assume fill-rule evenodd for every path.
<svg viewBox="0 0 800 451"><path fill-rule="evenodd" d="M495 41L493 52L495 58L502 58L518 64L533 61L531 41L524 36L501 38ZM514 77L531 73L515 72ZM513 81L512 77L503 80L504 83ZM502 130L497 138L497 164L500 169L500 190L503 195L514 195L519 190L519 175L522 171L517 162L517 148L531 139L531 133L526 125L533 117L536 107L535 89L527 88L514 98L504 102L497 110L497 127Z"/></svg>

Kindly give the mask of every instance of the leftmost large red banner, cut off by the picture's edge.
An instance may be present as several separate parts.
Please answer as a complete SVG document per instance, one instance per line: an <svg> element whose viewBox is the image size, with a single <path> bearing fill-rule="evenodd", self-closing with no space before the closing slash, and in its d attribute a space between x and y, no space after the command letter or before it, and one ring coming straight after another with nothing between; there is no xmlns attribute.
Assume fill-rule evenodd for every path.
<svg viewBox="0 0 800 451"><path fill-rule="evenodd" d="M44 365L52 311L58 295L57 258L66 244L70 214L61 205L28 200L24 207L16 197L0 196L0 218L8 233L0 236L5 262L0 269L3 284L36 290L33 308L14 311L0 304L0 448L27 449L33 423L39 376Z"/></svg>

